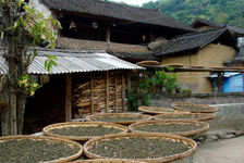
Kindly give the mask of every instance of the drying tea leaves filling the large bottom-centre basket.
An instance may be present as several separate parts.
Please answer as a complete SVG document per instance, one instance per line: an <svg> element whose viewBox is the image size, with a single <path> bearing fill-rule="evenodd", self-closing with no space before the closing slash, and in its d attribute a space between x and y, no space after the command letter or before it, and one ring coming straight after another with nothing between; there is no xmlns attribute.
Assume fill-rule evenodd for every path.
<svg viewBox="0 0 244 163"><path fill-rule="evenodd" d="M98 141L88 149L100 156L113 159L155 159L183 153L190 147L161 138L124 137Z"/></svg>

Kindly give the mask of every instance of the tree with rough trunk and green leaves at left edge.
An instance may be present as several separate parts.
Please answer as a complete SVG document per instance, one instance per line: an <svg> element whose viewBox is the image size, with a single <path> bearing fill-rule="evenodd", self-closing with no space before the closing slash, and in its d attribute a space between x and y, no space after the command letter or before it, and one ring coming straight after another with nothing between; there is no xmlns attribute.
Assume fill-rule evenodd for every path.
<svg viewBox="0 0 244 163"><path fill-rule="evenodd" d="M54 48L57 32L53 28L61 26L49 17L53 28L48 28L47 18L30 9L24 0L1 0L0 11L3 24L1 48L9 68L0 83L0 97L7 102L1 113L2 136L5 136L23 133L26 98L34 96L39 87L28 75L28 66L37 55L36 47L45 45L44 39L47 40L47 48ZM56 65L53 60L54 57L47 59L47 70Z"/></svg>

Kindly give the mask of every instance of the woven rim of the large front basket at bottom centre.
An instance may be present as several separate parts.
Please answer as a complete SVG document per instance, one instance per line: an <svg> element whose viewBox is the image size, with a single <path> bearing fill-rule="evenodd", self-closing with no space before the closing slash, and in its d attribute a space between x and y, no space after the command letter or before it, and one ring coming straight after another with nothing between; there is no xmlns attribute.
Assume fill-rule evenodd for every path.
<svg viewBox="0 0 244 163"><path fill-rule="evenodd" d="M90 139L89 141L87 141L84 145L84 152L85 152L86 156L88 156L90 159L106 159L101 155L89 152L89 148L94 143L99 143L99 141L106 141L106 140L109 140L109 139L117 139L118 140L120 138L133 138L133 137L134 138L139 138L139 137L142 138L143 137L143 138L148 138L148 139L160 138L160 139L164 139L164 140L170 140L172 142L183 142L183 143L185 143L190 147L190 150L187 150L183 153L175 153L173 155L162 156L162 158L154 158L154 159L130 159L129 158L129 159L123 159L123 160L126 160L127 162L130 162L130 161L150 162L150 163L170 162L170 161L174 161L174 160L184 159L184 158L187 158L187 156L194 154L196 152L196 148L197 148L197 143L194 140L185 138L185 137L176 136L176 135L127 133L127 134L110 135L110 136L103 136L103 137ZM120 147L118 147L118 148L120 148Z"/></svg>

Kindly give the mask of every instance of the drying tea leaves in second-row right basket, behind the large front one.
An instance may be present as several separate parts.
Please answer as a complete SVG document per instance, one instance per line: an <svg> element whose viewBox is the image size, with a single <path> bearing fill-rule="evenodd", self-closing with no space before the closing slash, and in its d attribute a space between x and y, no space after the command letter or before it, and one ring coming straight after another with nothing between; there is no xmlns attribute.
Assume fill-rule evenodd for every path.
<svg viewBox="0 0 244 163"><path fill-rule="evenodd" d="M149 131L149 133L181 133L181 131L193 131L200 128L202 128L200 125L186 124L186 123L148 124L148 125L138 125L134 127L135 130Z"/></svg>

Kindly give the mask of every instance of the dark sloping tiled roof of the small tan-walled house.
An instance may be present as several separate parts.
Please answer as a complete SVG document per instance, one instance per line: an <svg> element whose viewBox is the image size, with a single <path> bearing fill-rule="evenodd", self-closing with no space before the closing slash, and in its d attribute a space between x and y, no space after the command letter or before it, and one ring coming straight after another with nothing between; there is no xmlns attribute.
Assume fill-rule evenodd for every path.
<svg viewBox="0 0 244 163"><path fill-rule="evenodd" d="M157 50L155 55L162 57L168 54L175 54L182 51L203 48L213 42L218 38L220 38L223 34L227 34L229 36L229 38L227 38L229 39L229 41L232 41L232 43L235 43L234 39L232 38L228 29L218 28L218 29L182 35L174 39L171 39L168 41L167 45L161 46Z"/></svg>

